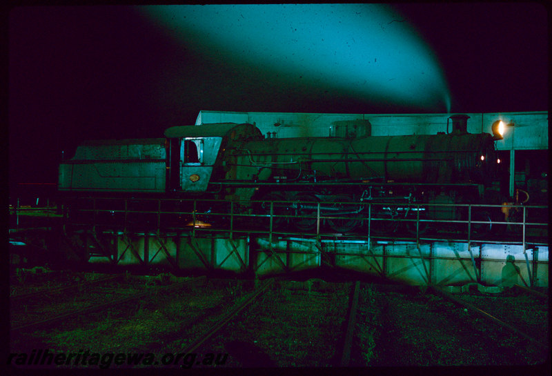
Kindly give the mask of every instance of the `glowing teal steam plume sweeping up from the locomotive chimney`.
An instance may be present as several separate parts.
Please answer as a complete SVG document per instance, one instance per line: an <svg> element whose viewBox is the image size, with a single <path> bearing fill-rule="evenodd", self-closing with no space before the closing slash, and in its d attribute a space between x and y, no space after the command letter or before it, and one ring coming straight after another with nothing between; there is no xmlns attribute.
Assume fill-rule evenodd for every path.
<svg viewBox="0 0 552 376"><path fill-rule="evenodd" d="M382 4L150 6L168 37L206 59L398 108L449 110L440 63ZM274 85L277 86L277 81Z"/></svg>

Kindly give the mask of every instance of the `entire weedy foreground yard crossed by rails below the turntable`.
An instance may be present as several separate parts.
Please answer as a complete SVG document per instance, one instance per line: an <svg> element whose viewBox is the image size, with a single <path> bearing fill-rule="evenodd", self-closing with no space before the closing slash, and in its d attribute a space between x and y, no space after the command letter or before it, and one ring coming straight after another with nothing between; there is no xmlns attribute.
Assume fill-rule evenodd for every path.
<svg viewBox="0 0 552 376"><path fill-rule="evenodd" d="M99 291L108 284L102 291L117 293L110 279L95 282L88 286ZM12 303L21 307L24 301L48 301L73 290L64 286L47 295L21 295ZM77 310L12 322L11 332L32 348L39 343L158 357L226 354L225 367L504 366L546 359L544 297L458 297L436 291L320 279L267 280L257 286L237 279L192 279L97 304L86 299ZM524 310L516 310L521 304L532 304L533 310L521 315Z"/></svg>

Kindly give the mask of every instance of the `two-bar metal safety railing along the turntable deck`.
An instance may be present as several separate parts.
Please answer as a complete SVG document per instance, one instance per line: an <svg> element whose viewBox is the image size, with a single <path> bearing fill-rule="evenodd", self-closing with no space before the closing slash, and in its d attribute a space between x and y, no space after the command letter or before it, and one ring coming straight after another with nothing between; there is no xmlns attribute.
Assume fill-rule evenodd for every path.
<svg viewBox="0 0 552 376"><path fill-rule="evenodd" d="M89 197L63 223L121 232L548 244L548 206Z"/></svg>

